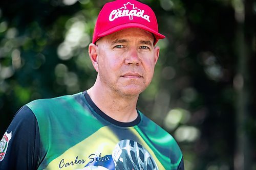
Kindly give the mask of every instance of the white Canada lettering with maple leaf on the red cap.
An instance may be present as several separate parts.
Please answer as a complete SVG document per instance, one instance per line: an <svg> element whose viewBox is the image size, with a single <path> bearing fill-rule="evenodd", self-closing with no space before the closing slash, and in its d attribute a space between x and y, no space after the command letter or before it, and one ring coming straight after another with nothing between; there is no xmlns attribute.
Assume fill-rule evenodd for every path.
<svg viewBox="0 0 256 170"><path fill-rule="evenodd" d="M134 4L131 4L131 3L123 4L123 7L117 10L113 10L110 13L109 20L113 21L116 18L125 17L125 16L129 16L130 20L133 19L134 16L141 17L147 20L148 22L150 22L150 16L144 15L144 10L140 10L137 7L134 7Z"/></svg>

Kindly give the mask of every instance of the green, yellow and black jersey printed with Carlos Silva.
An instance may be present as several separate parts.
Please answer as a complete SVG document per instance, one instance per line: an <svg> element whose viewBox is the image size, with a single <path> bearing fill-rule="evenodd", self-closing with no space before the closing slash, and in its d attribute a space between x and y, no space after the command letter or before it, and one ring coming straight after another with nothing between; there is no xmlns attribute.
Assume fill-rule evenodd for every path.
<svg viewBox="0 0 256 170"><path fill-rule="evenodd" d="M25 105L8 134L0 168L184 169L169 133L140 111L130 123L112 119L86 91Z"/></svg>

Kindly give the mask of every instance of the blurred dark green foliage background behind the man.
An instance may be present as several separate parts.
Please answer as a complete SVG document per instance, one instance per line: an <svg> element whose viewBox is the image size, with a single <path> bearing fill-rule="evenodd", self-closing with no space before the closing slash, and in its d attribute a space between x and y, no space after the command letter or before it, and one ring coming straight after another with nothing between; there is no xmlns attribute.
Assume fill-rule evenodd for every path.
<svg viewBox="0 0 256 170"><path fill-rule="evenodd" d="M93 85L88 44L106 2L0 1L0 136L24 104ZM176 138L186 170L256 169L256 3L141 2L166 39L138 109Z"/></svg>

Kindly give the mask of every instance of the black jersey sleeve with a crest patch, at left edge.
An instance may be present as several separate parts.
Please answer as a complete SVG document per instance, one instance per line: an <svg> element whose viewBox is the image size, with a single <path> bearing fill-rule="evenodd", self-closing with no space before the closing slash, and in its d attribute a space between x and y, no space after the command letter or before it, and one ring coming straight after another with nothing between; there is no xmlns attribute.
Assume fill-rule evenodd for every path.
<svg viewBox="0 0 256 170"><path fill-rule="evenodd" d="M40 161L39 128L34 113L20 108L0 142L0 169L37 169Z"/></svg>

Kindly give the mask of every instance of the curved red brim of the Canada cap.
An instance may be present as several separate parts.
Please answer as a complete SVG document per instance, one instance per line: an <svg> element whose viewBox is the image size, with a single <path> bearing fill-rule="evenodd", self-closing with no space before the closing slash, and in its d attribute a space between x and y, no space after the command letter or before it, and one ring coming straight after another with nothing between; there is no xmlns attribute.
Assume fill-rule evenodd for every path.
<svg viewBox="0 0 256 170"><path fill-rule="evenodd" d="M156 38L156 40L155 40L155 42L154 42L154 45L157 43L157 41L158 41L159 39L165 38L164 35L162 35L162 34L156 32L156 31L154 31L154 30L152 30L152 29L150 29L150 28L148 28L148 27L146 27L145 25L142 25L142 24L140 24L140 23L133 23L133 22L130 22L130 23L125 23L125 24L123 24L123 25L119 25L119 26L113 27L113 28L111 28L111 29L109 29L109 30L107 30L107 31L105 31L105 32L103 32L103 33L101 33L101 34L99 34L97 40L98 40L99 38L101 38L101 37L104 37L104 36L106 36L106 35L110 35L110 34L112 34L112 33L115 33L115 32L117 32L117 31L120 31L120 30L123 30L123 29L127 29L127 28L139 28L139 29L142 29L142 30L146 30L146 31L148 31L148 32L151 32L151 33L155 36L155 38ZM96 40L96 41L97 41L97 40Z"/></svg>

